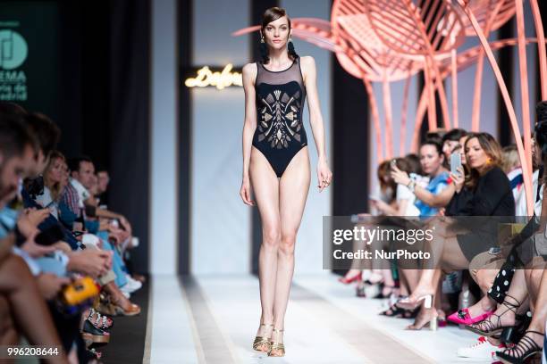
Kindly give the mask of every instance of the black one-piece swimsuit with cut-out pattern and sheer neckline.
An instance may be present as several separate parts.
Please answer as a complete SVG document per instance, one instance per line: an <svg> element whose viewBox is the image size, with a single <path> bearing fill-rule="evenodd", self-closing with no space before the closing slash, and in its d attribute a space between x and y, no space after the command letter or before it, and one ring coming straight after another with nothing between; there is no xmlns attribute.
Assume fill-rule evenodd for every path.
<svg viewBox="0 0 547 364"><path fill-rule="evenodd" d="M299 58L286 70L266 70L257 62L257 129L253 145L264 154L277 177L282 177L292 158L307 145L302 110L306 87Z"/></svg>

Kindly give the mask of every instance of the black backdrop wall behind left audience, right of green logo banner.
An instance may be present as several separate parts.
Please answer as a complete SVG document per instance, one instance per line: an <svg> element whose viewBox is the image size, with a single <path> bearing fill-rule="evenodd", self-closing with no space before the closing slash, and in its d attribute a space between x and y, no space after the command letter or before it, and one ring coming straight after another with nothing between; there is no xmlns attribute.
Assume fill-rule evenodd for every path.
<svg viewBox="0 0 547 364"><path fill-rule="evenodd" d="M130 219L140 239L136 269L147 271L150 0L2 1L0 21L25 9L35 18L25 31L54 48L47 56L29 44L25 62L53 57L57 67L42 71L54 72L56 82L33 86L40 97L24 106L55 120L68 158L86 154L109 170L109 208ZM40 9L53 13L55 27L41 21ZM48 106L37 101L43 98L51 99Z"/></svg>

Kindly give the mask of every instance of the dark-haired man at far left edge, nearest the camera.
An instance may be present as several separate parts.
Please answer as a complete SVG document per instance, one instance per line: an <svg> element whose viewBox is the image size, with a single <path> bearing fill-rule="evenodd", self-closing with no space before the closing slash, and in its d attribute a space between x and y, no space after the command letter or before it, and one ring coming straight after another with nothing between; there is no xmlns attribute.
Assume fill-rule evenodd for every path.
<svg viewBox="0 0 547 364"><path fill-rule="evenodd" d="M16 197L19 181L29 173L37 145L25 128L22 115L17 108L13 110L0 103L0 322L4 325L0 344L19 344L22 334L29 343L60 347L61 341L41 297L44 292L40 293L28 264L10 250L18 211L7 203ZM68 362L64 351L45 361Z"/></svg>

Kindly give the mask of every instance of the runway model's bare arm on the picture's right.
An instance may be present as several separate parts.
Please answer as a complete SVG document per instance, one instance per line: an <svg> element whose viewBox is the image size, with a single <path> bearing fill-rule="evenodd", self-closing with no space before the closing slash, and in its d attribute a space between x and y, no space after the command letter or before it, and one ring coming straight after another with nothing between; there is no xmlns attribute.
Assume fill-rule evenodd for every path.
<svg viewBox="0 0 547 364"><path fill-rule="evenodd" d="M311 56L301 57L300 66L304 85L306 86L307 108L309 109L309 123L312 128L314 140L316 141L317 155L317 178L320 191L329 186L332 180L332 172L328 167L327 155L324 143L324 123L317 95L317 71L316 61ZM326 182L325 182L326 181Z"/></svg>

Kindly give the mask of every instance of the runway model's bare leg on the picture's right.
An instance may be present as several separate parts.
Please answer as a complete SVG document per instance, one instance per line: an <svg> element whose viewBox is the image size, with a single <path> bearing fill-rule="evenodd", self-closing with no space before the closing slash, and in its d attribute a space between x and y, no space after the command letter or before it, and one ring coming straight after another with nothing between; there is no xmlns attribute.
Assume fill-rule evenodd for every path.
<svg viewBox="0 0 547 364"><path fill-rule="evenodd" d="M309 157L307 147L304 147L290 161L279 184L281 244L277 258L277 280L273 302L273 323L276 329L284 327L290 281L294 272L294 245L306 205L309 183ZM272 341L282 343L282 336L282 332L274 332ZM273 351L272 354L280 355L281 352Z"/></svg>

